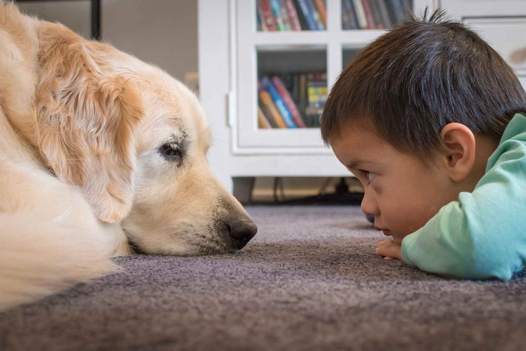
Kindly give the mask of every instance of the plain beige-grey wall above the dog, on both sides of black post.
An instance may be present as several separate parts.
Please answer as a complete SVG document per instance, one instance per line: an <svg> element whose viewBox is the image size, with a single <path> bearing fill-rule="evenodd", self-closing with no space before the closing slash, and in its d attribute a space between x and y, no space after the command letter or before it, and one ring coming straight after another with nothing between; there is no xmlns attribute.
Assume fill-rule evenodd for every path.
<svg viewBox="0 0 526 351"><path fill-rule="evenodd" d="M184 82L197 72L197 0L102 0L102 39ZM90 36L90 1L23 2L19 7Z"/></svg>

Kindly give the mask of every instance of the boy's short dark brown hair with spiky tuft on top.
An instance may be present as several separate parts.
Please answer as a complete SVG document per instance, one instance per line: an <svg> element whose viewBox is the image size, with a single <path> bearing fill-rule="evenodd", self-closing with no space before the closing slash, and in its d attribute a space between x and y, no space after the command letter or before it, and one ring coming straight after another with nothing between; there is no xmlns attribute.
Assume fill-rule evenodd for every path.
<svg viewBox="0 0 526 351"><path fill-rule="evenodd" d="M401 152L424 159L442 145L448 123L500 140L526 94L502 57L476 33L444 19L413 16L370 43L340 74L321 117L330 145L351 119L372 118L376 132Z"/></svg>

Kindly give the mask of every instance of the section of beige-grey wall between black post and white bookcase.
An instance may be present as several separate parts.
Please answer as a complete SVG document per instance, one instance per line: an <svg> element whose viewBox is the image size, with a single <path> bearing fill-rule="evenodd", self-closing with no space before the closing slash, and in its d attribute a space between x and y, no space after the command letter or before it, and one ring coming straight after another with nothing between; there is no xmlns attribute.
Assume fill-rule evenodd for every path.
<svg viewBox="0 0 526 351"><path fill-rule="evenodd" d="M102 0L102 38L184 81L197 72L197 0Z"/></svg>

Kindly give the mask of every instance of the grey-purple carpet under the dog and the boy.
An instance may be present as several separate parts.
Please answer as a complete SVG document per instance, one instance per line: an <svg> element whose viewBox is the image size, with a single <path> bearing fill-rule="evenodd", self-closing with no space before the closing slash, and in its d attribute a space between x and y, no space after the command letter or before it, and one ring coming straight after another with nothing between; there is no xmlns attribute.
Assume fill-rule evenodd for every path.
<svg viewBox="0 0 526 351"><path fill-rule="evenodd" d="M526 272L448 280L374 254L358 207L249 207L234 255L126 273L0 314L1 350L526 349Z"/></svg>

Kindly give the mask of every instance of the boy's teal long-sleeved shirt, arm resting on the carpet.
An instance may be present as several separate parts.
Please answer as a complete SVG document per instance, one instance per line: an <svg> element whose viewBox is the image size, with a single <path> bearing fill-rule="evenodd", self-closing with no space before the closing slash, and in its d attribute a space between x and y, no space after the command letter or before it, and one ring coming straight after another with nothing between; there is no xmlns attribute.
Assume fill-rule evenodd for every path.
<svg viewBox="0 0 526 351"><path fill-rule="evenodd" d="M526 117L515 115L473 192L402 240L402 259L444 276L510 279L526 264Z"/></svg>

